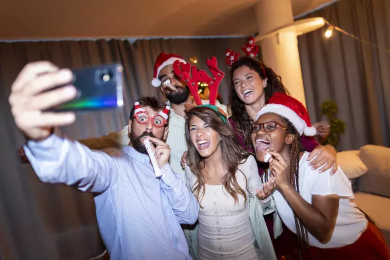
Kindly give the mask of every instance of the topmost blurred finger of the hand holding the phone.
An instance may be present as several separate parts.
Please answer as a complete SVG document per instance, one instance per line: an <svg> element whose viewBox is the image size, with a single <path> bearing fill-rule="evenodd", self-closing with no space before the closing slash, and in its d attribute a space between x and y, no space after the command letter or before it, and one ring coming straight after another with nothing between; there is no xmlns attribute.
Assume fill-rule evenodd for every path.
<svg viewBox="0 0 390 260"><path fill-rule="evenodd" d="M58 67L49 61L38 61L29 63L20 71L18 77L11 86L12 91L19 91L30 80L34 79L40 74L55 72Z"/></svg>

